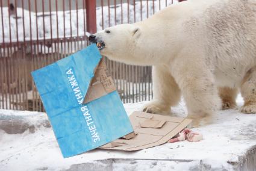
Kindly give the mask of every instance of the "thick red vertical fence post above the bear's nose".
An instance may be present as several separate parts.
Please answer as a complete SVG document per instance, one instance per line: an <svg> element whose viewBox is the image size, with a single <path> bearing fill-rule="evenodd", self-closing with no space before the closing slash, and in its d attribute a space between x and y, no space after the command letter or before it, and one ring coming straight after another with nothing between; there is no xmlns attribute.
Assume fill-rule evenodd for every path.
<svg viewBox="0 0 256 171"><path fill-rule="evenodd" d="M86 28L89 33L96 33L96 0L86 0Z"/></svg>

